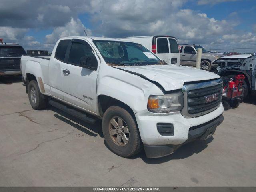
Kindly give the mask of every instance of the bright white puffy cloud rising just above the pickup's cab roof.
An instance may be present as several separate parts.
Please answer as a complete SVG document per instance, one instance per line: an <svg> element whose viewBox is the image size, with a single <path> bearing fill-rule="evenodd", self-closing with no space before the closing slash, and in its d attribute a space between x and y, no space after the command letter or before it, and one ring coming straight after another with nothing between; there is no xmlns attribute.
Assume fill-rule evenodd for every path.
<svg viewBox="0 0 256 192"><path fill-rule="evenodd" d="M74 20L71 18L70 22L65 26L54 28L51 34L46 35L46 43L54 44L59 38L67 36L84 36L84 29L85 26L79 19ZM88 36L92 34L90 29L86 29L86 33Z"/></svg>

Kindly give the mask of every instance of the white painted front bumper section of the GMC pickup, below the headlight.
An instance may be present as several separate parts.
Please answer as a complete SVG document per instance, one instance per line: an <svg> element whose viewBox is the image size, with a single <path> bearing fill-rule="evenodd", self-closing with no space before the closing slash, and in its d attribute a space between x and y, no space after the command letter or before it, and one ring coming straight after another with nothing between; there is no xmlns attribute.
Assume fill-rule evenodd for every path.
<svg viewBox="0 0 256 192"><path fill-rule="evenodd" d="M140 137L146 148L148 146L179 146L189 139L191 127L209 124L209 122L221 116L223 111L224 108L220 104L216 110L193 118L185 118L180 112L155 114L148 110L136 113L135 117L140 131ZM171 136L161 135L157 130L157 123L173 124L174 134Z"/></svg>

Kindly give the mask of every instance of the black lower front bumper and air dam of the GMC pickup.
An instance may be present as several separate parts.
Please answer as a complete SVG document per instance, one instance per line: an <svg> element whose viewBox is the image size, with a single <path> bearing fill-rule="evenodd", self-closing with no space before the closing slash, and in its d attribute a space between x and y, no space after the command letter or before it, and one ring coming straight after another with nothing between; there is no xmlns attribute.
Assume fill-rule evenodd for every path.
<svg viewBox="0 0 256 192"><path fill-rule="evenodd" d="M216 127L224 120L223 115L218 116L210 122L194 126L189 129L188 139L180 145L145 145L144 150L148 158L159 158L175 152L180 146L196 139L206 140L212 136Z"/></svg>

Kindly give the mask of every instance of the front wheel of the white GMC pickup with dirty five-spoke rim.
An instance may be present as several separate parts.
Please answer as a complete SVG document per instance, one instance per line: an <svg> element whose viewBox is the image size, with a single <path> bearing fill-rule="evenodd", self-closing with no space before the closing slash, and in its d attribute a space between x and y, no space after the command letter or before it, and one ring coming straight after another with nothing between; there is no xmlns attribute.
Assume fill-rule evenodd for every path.
<svg viewBox="0 0 256 192"><path fill-rule="evenodd" d="M122 157L142 150L142 141L132 115L119 106L110 106L102 119L102 132L109 149Z"/></svg>

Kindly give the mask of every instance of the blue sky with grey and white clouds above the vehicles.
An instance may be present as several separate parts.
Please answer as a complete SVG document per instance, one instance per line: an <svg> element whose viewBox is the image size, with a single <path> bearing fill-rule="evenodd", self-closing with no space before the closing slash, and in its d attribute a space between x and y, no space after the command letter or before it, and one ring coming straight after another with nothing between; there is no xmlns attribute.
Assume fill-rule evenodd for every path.
<svg viewBox="0 0 256 192"><path fill-rule="evenodd" d="M208 50L256 52L256 0L0 0L0 18L0 38L25 50L51 52L58 38L86 30L110 38L170 35Z"/></svg>

